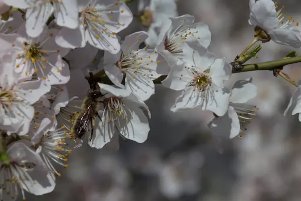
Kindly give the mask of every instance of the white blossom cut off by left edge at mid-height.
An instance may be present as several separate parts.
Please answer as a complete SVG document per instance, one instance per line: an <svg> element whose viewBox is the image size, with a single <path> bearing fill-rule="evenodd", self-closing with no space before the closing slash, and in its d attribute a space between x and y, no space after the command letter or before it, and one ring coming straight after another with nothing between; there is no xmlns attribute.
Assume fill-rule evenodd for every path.
<svg viewBox="0 0 301 201"><path fill-rule="evenodd" d="M41 80L23 82L14 71L13 55L5 55L0 66L0 129L25 135L34 117L31 106L48 92Z"/></svg>

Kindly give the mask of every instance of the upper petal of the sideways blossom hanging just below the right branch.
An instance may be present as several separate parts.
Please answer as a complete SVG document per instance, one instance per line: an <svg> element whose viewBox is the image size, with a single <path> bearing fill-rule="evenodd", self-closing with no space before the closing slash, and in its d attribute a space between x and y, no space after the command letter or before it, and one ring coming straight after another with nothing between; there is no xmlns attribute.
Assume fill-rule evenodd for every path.
<svg viewBox="0 0 301 201"><path fill-rule="evenodd" d="M242 104L257 95L257 87L251 83L252 78L238 80L232 87L230 102Z"/></svg>

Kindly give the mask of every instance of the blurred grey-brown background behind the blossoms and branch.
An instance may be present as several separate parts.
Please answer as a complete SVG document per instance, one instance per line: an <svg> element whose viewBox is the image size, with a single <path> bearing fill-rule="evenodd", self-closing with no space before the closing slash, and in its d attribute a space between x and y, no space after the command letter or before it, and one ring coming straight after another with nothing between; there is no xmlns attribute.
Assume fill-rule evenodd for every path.
<svg viewBox="0 0 301 201"><path fill-rule="evenodd" d="M177 5L179 15L194 15L196 22L209 25L210 51L228 62L253 40L248 0L179 0ZM284 14L301 21L300 1L279 0L278 5L285 5ZM135 14L137 4L129 7ZM134 20L121 36L139 28ZM280 59L293 50L273 42L262 47L259 58L250 62ZM300 65L287 66L284 72L298 80ZM27 199L301 200L301 123L296 116L283 117L295 88L268 71L234 74L227 84L231 87L251 76L258 94L250 104L259 110L241 140L214 140L207 128L213 118L210 112L172 113L179 92L157 85L156 94L146 102L152 119L145 143L119 139L119 151L97 150L84 143L70 154L69 168L60 169L62 176L53 192L28 193Z"/></svg>

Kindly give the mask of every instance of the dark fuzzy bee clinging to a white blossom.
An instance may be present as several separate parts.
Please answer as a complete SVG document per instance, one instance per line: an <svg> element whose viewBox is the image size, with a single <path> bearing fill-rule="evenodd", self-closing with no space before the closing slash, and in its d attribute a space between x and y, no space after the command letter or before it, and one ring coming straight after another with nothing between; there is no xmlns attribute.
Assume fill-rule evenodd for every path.
<svg viewBox="0 0 301 201"><path fill-rule="evenodd" d="M90 73L90 89L88 91L87 96L83 100L83 104L81 107L81 112L78 115L78 117L75 120L75 124L72 129L73 136L72 139L79 138L83 140L85 137L85 134L88 131L91 131L90 134L90 141L93 138L93 131L94 131L94 124L95 124L95 118L99 118L99 120L102 122L99 114L98 114L98 98L104 96L105 94L102 94L99 90L99 86L96 81L93 81L92 78L93 74ZM92 80L92 81L91 81Z"/></svg>

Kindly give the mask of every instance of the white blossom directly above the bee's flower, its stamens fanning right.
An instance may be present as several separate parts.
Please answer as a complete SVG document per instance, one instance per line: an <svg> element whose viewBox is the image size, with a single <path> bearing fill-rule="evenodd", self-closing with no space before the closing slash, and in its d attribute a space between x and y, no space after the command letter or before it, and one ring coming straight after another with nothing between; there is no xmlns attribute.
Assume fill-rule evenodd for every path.
<svg viewBox="0 0 301 201"><path fill-rule="evenodd" d="M131 90L143 101L155 93L154 79L161 74L157 71L169 68L161 62L160 55L139 45L148 38L144 31L135 32L125 37L118 54L104 53L104 69L110 80L119 87ZM125 85L121 84L125 75Z"/></svg>

